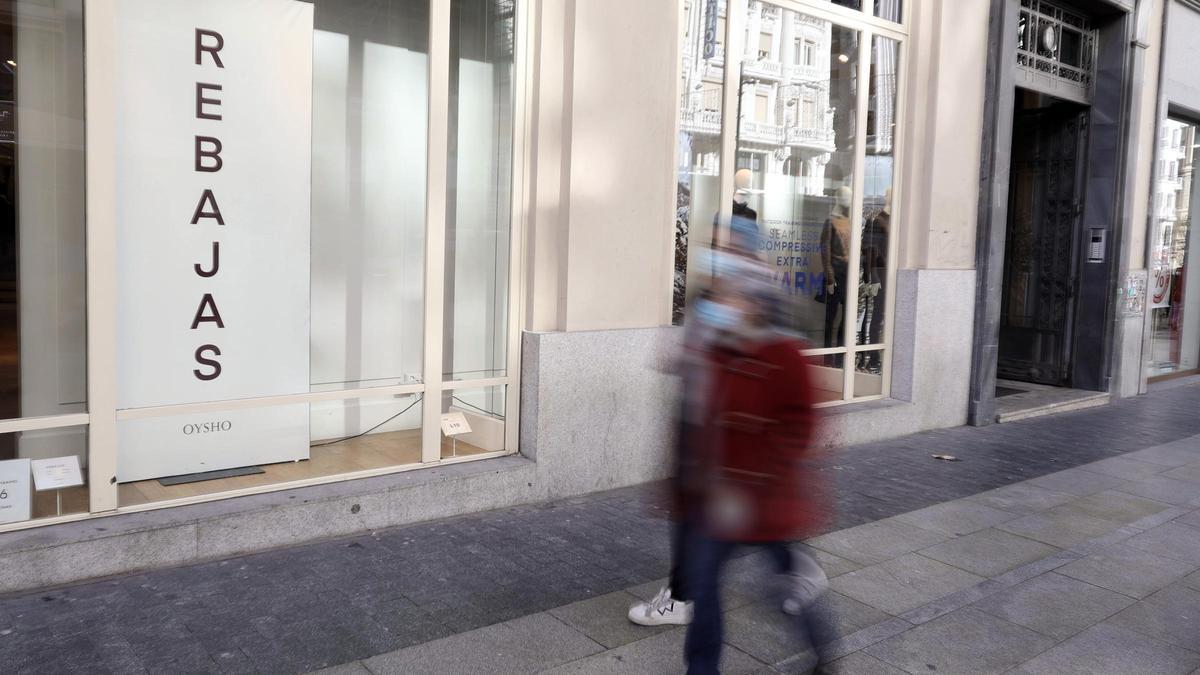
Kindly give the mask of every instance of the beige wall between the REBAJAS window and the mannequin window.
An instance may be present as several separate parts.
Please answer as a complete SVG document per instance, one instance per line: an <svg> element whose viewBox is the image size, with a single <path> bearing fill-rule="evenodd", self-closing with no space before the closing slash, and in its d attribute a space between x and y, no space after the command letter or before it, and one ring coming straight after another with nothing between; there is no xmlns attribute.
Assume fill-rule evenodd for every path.
<svg viewBox="0 0 1200 675"><path fill-rule="evenodd" d="M542 0L527 328L671 321L678 6Z"/></svg>

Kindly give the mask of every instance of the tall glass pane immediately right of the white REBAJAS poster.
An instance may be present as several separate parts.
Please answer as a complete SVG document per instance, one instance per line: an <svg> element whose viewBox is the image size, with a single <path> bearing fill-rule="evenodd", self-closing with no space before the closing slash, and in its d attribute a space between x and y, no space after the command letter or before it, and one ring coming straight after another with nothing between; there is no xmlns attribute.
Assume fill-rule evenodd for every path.
<svg viewBox="0 0 1200 675"><path fill-rule="evenodd" d="M428 0L314 2L313 390L424 380L428 32Z"/></svg>

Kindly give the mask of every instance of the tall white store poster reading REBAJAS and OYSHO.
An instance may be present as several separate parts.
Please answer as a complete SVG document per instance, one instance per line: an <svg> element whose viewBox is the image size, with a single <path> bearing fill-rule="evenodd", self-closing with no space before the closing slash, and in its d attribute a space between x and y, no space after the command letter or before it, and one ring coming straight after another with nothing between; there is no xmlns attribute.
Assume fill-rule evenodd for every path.
<svg viewBox="0 0 1200 675"><path fill-rule="evenodd" d="M312 5L114 4L118 406L308 390ZM307 459L307 405L122 420L118 480Z"/></svg>

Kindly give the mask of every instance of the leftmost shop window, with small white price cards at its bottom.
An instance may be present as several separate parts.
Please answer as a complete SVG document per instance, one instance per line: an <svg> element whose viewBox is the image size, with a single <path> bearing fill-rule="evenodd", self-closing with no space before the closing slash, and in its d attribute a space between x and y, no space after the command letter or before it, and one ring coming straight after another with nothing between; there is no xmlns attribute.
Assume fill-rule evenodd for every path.
<svg viewBox="0 0 1200 675"><path fill-rule="evenodd" d="M0 527L90 509L79 0L0 20Z"/></svg>

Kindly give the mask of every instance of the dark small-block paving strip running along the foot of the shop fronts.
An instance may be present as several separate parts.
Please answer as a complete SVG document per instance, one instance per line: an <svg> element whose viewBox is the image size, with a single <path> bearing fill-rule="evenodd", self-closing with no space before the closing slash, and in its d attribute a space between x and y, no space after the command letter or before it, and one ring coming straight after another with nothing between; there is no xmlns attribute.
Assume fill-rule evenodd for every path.
<svg viewBox="0 0 1200 675"><path fill-rule="evenodd" d="M1193 442L1184 440L1200 435L1198 411L1200 386L1195 380L1180 381L1090 411L842 448L817 468L838 488L834 528L845 530L1022 480L1057 480L1048 474L1129 452ZM932 453L955 454L962 461L936 461ZM1130 466L1146 462L1136 461L1141 464ZM1138 496L1171 503L1166 492L1194 483L1178 473L1188 471L1146 478L1151 484L1139 490L1164 492ZM1061 486L1049 489L1072 494ZM563 650L558 663L582 656L570 651L576 647L601 653L619 640L641 644L644 632L620 632L632 626L620 625L620 631L614 626L614 637L596 640L558 615L576 603L604 597L607 605L583 611L598 620L624 621L624 607L632 596L656 590L667 567L667 524L655 507L654 491L654 486L614 490L0 597L0 663L5 671L20 673L305 673L473 631L515 632L529 635L533 644L553 644ZM1016 508L982 506L1009 513ZM1049 504L1043 510L1055 515L1061 510L1051 509L1063 506ZM1103 515L1096 518L1109 522ZM866 527L889 530L893 522L905 521L896 518ZM910 532L926 530L907 525ZM1016 536L1038 540L1032 532ZM1073 544L1046 545L1069 549ZM842 565L833 571L847 574L892 562L841 555L827 560ZM738 565L752 562L746 558ZM962 572L989 577L985 569ZM850 590L844 595L853 597ZM868 599L856 602L874 607ZM890 614L888 609L900 611L876 608ZM880 619L866 611L845 616L858 623L856 628ZM562 639L542 631L559 629L559 625L570 631ZM571 638L574 633L582 633L586 641ZM677 634L665 632L649 639L659 643L637 649L661 645L664 658L677 663ZM485 645L479 647L481 658L491 663L490 643L480 644Z"/></svg>

